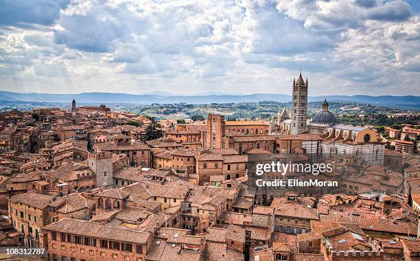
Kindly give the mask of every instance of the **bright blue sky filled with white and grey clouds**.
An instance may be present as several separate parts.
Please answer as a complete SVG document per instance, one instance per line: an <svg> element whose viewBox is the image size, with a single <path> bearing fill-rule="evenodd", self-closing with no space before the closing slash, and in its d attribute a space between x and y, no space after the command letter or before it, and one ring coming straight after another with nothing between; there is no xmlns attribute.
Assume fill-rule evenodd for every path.
<svg viewBox="0 0 420 261"><path fill-rule="evenodd" d="M420 95L418 0L1 0L0 90Z"/></svg>

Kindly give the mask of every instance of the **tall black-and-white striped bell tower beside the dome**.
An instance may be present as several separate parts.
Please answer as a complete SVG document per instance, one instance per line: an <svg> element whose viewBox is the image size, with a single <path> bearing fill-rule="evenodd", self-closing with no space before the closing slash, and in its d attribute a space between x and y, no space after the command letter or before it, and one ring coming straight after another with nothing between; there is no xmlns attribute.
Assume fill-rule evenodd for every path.
<svg viewBox="0 0 420 261"><path fill-rule="evenodd" d="M290 114L292 117L290 134L305 133L307 128L307 79L306 82L303 81L302 73L299 73L299 78L296 81L293 79L292 110Z"/></svg>

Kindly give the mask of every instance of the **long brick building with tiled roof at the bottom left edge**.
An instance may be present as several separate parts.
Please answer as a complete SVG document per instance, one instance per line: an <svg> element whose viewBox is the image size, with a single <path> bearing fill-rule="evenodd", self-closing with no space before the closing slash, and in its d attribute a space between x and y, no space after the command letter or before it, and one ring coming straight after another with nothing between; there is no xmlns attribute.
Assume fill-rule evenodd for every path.
<svg viewBox="0 0 420 261"><path fill-rule="evenodd" d="M153 235L128 227L63 218L43 227L49 260L145 260Z"/></svg>

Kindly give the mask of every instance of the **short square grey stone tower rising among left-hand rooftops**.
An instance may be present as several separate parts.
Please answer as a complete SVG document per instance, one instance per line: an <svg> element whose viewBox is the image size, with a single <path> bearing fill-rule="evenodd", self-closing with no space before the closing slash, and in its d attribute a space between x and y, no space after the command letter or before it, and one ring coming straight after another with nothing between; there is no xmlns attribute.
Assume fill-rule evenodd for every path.
<svg viewBox="0 0 420 261"><path fill-rule="evenodd" d="M96 187L113 185L113 154L110 152L88 153L89 168L95 172Z"/></svg>

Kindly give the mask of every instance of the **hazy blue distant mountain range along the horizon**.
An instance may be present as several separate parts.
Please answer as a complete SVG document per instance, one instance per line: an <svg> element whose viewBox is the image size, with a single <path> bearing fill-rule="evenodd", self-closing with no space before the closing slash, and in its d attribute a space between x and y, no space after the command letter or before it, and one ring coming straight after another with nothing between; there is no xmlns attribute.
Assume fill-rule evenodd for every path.
<svg viewBox="0 0 420 261"><path fill-rule="evenodd" d="M420 96L369 96L369 95L327 95L329 101L348 101L366 104L377 104L406 109L420 109ZM324 100L325 96L309 96L309 102ZM143 94L127 93L78 93L78 94L51 94L51 93L14 93L0 91L0 100L22 102L59 102L69 103L75 99L80 103L130 103L130 104L172 104L185 102L189 104L210 103L238 103L238 102L289 102L292 97L286 94L254 93L248 95L225 93L202 93L193 95L176 95L161 91Z"/></svg>

